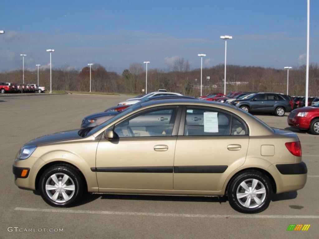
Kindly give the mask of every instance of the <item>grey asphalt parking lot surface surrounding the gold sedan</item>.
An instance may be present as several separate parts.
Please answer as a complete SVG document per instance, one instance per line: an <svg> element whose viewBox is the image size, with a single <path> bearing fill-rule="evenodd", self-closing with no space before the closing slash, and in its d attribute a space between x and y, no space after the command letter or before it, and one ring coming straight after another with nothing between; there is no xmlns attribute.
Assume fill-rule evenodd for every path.
<svg viewBox="0 0 319 239"><path fill-rule="evenodd" d="M12 163L24 143L79 128L86 115L127 98L131 96L0 97L0 238L318 238L318 136L290 128L287 113L256 116L271 127L298 134L308 167L307 184L298 192L276 195L260 214L240 214L217 197L88 195L80 205L61 209L14 185ZM311 226L308 231L286 231L290 224ZM11 232L8 227L63 228L63 232L15 232L15 228Z"/></svg>

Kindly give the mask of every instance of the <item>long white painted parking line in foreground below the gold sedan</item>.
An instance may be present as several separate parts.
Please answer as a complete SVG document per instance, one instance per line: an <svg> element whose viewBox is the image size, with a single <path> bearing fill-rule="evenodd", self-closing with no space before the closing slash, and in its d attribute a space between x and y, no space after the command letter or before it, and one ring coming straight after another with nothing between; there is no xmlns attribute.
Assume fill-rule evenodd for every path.
<svg viewBox="0 0 319 239"><path fill-rule="evenodd" d="M218 214L177 214L177 213L140 213L140 212L113 212L113 211L91 211L91 210L70 210L70 209L41 209L16 207L16 211L46 212L46 213L80 213L80 214L108 214L121 216L155 216L155 217L194 217L194 218L305 218L319 219L317 215L218 215Z"/></svg>

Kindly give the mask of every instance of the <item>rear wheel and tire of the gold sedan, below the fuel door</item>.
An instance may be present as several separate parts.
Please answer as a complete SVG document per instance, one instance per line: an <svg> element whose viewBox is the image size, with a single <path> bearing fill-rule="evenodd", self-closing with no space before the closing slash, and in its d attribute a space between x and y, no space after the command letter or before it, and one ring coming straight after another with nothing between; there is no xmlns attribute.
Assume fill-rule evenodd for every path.
<svg viewBox="0 0 319 239"><path fill-rule="evenodd" d="M253 184L256 185L251 190ZM234 177L229 185L228 200L230 206L238 212L260 213L269 206L271 194L272 187L269 178L259 171L252 170Z"/></svg>

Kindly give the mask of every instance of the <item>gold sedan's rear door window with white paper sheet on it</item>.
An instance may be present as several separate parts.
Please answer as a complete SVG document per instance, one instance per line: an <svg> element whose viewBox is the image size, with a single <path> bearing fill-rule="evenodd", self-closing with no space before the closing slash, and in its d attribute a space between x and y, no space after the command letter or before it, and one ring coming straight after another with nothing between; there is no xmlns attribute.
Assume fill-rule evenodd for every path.
<svg viewBox="0 0 319 239"><path fill-rule="evenodd" d="M230 121L230 114L213 109L188 107L186 110L184 135L229 135Z"/></svg>

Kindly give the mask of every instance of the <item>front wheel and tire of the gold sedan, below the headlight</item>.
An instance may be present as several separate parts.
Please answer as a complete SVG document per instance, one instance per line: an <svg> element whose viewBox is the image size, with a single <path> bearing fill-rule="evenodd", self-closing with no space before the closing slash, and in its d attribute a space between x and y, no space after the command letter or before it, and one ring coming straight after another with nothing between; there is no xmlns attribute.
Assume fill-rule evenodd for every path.
<svg viewBox="0 0 319 239"><path fill-rule="evenodd" d="M47 190L48 186L52 190ZM83 195L83 179L78 170L70 165L53 165L41 175L39 189L42 199L49 205L73 206Z"/></svg>

